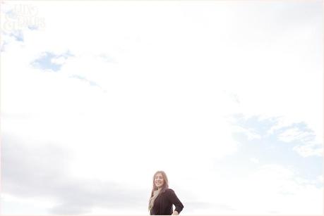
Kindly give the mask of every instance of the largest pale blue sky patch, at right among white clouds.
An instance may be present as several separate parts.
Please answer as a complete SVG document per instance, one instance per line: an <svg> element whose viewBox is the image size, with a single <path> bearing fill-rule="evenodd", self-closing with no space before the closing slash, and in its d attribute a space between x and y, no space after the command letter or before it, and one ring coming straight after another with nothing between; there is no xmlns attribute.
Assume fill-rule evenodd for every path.
<svg viewBox="0 0 324 216"><path fill-rule="evenodd" d="M236 125L256 132L260 139L248 139L245 132L235 132L233 137L239 142L239 151L226 158L226 163L234 163L234 167L241 167L241 170L250 170L250 158L257 158L260 165L280 164L292 168L298 175L305 179L314 181L320 174L323 174L323 158L318 156L302 157L293 150L294 146L304 145L305 142L314 139L313 131L307 127L306 123L300 122L277 129L272 134L268 131L277 124L275 117L260 120L258 116L244 119L241 115L236 115ZM235 123L234 123L235 124ZM280 134L287 129L298 129L300 132L307 132L309 135L292 141L283 141L279 139ZM256 168L256 167L254 167ZM243 171L242 171L243 172ZM317 185L319 186L319 185Z"/></svg>

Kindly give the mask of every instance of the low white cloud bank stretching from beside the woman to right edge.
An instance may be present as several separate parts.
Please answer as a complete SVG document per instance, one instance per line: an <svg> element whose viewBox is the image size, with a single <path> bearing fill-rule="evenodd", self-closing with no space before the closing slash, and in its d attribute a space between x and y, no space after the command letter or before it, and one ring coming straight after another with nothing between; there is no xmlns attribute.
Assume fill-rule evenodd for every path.
<svg viewBox="0 0 324 216"><path fill-rule="evenodd" d="M214 205L184 212L184 215L208 214L320 214L323 203L323 187L300 178L294 170L277 164L260 165L258 170L245 174L232 169L232 178L225 179L219 170L195 190L196 201ZM303 179L304 182L297 182ZM206 192L208 191L208 193ZM188 200L189 202L189 200ZM230 204L229 204L230 203ZM220 205L229 204L230 208Z"/></svg>

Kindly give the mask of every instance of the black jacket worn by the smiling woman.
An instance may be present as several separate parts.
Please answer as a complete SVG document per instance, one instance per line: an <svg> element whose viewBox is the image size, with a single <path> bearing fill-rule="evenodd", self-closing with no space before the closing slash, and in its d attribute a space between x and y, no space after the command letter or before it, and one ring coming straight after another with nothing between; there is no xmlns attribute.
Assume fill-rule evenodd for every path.
<svg viewBox="0 0 324 216"><path fill-rule="evenodd" d="M176 206L175 210L179 213L184 208L176 193L172 189L167 189L155 199L153 208L150 210L150 215L172 215L172 205Z"/></svg>

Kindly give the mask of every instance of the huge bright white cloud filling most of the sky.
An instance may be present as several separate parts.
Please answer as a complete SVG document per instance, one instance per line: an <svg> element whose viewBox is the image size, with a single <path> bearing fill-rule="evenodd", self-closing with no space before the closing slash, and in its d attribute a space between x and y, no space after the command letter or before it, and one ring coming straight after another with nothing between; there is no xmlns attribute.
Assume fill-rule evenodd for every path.
<svg viewBox="0 0 324 216"><path fill-rule="evenodd" d="M216 1L96 1L78 6L67 1L64 7L30 2L44 18L44 28L25 30L23 43L6 40L1 55L3 134L29 140L30 148L51 141L73 152L66 178L113 179L124 189L149 193L151 175L166 170L184 201L197 206L215 202L201 204L198 214L321 212L323 189L296 184L294 173L284 167L262 166L251 158L260 170L247 177L234 169L233 179L222 179L213 170L215 159L239 153L232 138L235 127L227 121L233 113L284 116L288 123L278 122L273 132L304 121L317 141L323 137L321 51L316 48L321 38L313 18L297 27L293 21L272 22L280 10L260 3L257 10L245 11L243 3ZM25 4L15 1L20 3ZM277 6L282 8L282 3ZM292 20L299 18L299 13L283 11ZM271 30L263 32L265 23ZM63 64L58 72L30 65L44 51L59 55L67 50L73 57L53 60ZM253 129L236 130L248 140L260 139ZM294 140L305 134L284 135L282 139ZM295 150L313 155L313 147ZM192 188L198 190L189 192ZM302 205L309 200L314 201ZM128 214L100 206L92 212Z"/></svg>

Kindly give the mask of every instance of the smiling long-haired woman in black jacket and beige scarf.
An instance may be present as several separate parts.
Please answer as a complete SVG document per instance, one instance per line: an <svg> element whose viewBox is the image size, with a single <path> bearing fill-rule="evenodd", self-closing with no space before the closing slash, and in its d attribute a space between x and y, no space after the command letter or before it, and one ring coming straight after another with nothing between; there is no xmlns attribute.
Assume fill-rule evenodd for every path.
<svg viewBox="0 0 324 216"><path fill-rule="evenodd" d="M173 211L172 205L176 207ZM179 215L184 205L179 201L176 193L169 189L167 174L163 171L155 172L153 176L153 189L148 202L150 215Z"/></svg>

